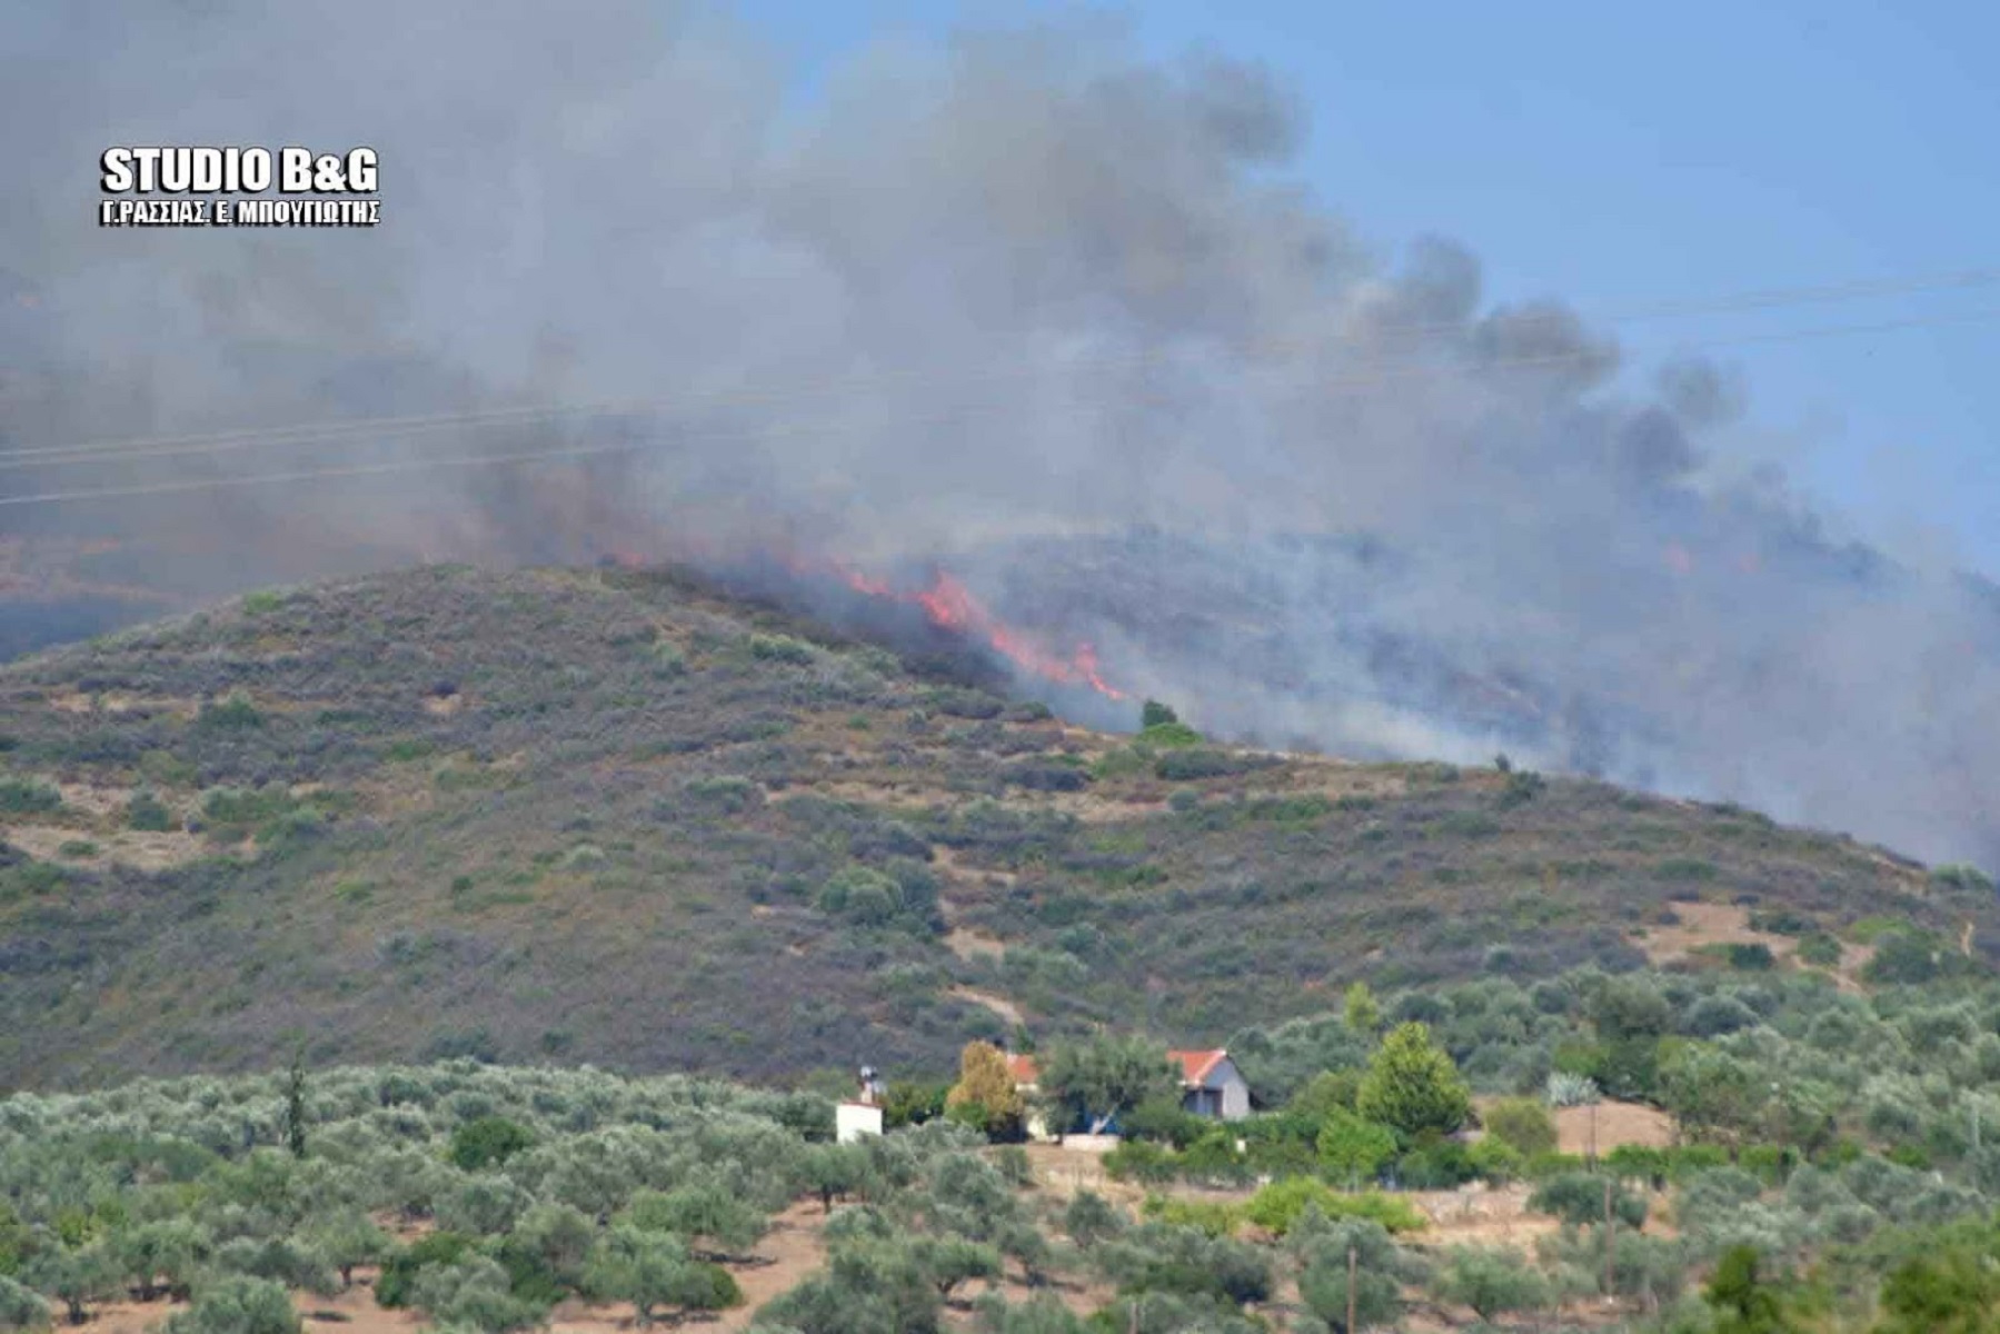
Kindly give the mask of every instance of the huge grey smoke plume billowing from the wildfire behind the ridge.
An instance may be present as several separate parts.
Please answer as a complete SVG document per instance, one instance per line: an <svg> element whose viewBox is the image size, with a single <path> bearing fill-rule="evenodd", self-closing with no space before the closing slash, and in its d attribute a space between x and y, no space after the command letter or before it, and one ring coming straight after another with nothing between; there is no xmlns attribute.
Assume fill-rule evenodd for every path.
<svg viewBox="0 0 2000 1334"><path fill-rule="evenodd" d="M8 468L588 452L0 508L122 542L106 582L936 562L1210 726L1508 748L2000 862L1992 590L1830 536L1734 444L1726 370L1636 388L1466 250L1376 256L1286 178L1304 126L1256 66L1082 24L884 48L798 110L728 22L650 0L76 0L6 36L10 448L646 404ZM384 224L98 230L98 152L158 142L366 142Z"/></svg>

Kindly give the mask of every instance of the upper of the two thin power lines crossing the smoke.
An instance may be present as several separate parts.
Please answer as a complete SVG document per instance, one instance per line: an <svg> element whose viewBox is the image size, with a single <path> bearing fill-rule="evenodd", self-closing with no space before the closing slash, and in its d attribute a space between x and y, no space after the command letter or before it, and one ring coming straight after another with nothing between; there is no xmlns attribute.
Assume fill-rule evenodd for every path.
<svg viewBox="0 0 2000 1334"><path fill-rule="evenodd" d="M1966 290L1978 286L2000 284L2000 268L1970 268L1952 274L1930 274L1912 278L1876 278L1876 280L1856 280L1842 284L1822 284L1822 286L1800 286L1800 288L1770 288L1762 292L1738 292L1732 296L1720 296L1696 302L1664 302L1656 306L1636 306L1626 312L1592 316L1596 324L1632 324L1644 320L1660 318L1680 318L1694 314L1732 314L1744 310L1772 310L1782 306L1804 306L1818 302L1840 302L1856 298L1874 296L1902 296L1916 292L1940 292L1940 290ZM1514 328L1522 324L1538 322L1568 322L1574 316L1564 310L1524 310L1510 316ZM1698 346L1736 346L1736 344L1760 344L1760 342L1790 342L1794 338L1822 338L1846 332L1882 332L1890 328L1910 328L1914 324L1956 324L1966 318L1992 318L1988 312L1974 312L1972 316L1912 316L1910 320L1892 320L1884 324L1834 328L1834 330L1794 330L1764 336L1746 336L1740 340L1710 340ZM1332 338L1314 340L1290 340L1290 342L1270 342L1258 344L1258 352L1264 354L1284 354L1284 352L1318 352L1338 346L1354 346L1364 340L1376 338L1426 338L1426 336L1446 336L1446 334L1470 334L1476 332L1478 324L1468 322L1440 322L1440 324L1406 324L1406 326L1376 326L1366 330L1366 334L1344 334ZM1086 358L1088 366L1116 368L1116 366L1146 366L1154 362L1164 362L1180 356L1180 348L1148 348L1124 354L1100 354ZM1558 354L1562 356L1562 354ZM1602 352L1576 352L1566 354L1562 360L1572 362L1594 362ZM1480 366L1542 366L1556 364L1544 358L1492 358L1480 362ZM968 372L964 382L978 384L984 380L1006 380L1016 376L1040 374L1040 366L1000 366L988 368L984 372ZM1396 372L1400 368L1376 368L1366 376L1342 378L1332 382L1340 384L1376 384L1390 378L1384 372ZM1424 374L1430 370L1428 364L1418 364L1410 368L1412 374ZM348 422L302 422L290 426L244 426L220 432L202 434L180 434L180 436L138 436L128 440L102 440L92 444L68 444L68 446L40 446L26 450L0 450L0 472L20 470L34 466L86 466L92 462L124 462L136 458L174 458L186 454L224 454L238 450L268 450L268 448L288 448L304 444L324 444L342 440L348 436L412 436L440 430L478 430L490 426L532 426L548 420L558 420L564 416L616 416L634 412L664 412L664 410L688 410L688 408L742 408L742 406L766 406L772 402L798 400L808 394L824 394L838 390L862 390L862 388L890 388L898 382L936 378L936 372L928 368L904 368L876 372L874 376L842 376L828 378L816 384L794 384L784 390L754 390L754 392L728 392L718 390L712 394L696 394L680 400L608 400L592 404L526 404L516 408L488 408L476 412L440 412L440 414L420 414L420 416L384 416L384 418L356 418Z"/></svg>

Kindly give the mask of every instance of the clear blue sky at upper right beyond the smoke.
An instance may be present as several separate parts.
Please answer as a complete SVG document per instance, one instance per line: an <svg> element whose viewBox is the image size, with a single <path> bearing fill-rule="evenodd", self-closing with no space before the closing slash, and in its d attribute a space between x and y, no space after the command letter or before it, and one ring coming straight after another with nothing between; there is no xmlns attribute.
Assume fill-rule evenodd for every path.
<svg viewBox="0 0 2000 1334"><path fill-rule="evenodd" d="M1078 6L744 0L810 102L884 38ZM1162 58L1266 62L1310 110L1296 174L1392 252L1468 244L1496 300L1586 314L1848 280L2000 270L2000 6L1280 4L1120 14ZM2000 282L1618 324L1632 356L2000 312ZM1752 448L1856 532L2000 574L2000 318L1714 348Z"/></svg>

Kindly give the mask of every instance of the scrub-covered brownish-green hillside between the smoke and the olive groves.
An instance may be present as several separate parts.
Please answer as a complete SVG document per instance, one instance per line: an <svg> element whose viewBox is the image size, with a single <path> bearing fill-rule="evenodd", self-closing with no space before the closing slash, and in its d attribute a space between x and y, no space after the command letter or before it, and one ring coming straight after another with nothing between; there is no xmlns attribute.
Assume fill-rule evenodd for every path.
<svg viewBox="0 0 2000 1334"><path fill-rule="evenodd" d="M1746 810L1134 744L902 642L432 566L0 668L0 1088L298 1044L944 1066L1016 1014L1226 1040L1352 978L1710 966L1748 924L1844 936L1842 986L1888 920L1996 938L1990 894Z"/></svg>

